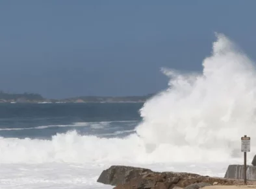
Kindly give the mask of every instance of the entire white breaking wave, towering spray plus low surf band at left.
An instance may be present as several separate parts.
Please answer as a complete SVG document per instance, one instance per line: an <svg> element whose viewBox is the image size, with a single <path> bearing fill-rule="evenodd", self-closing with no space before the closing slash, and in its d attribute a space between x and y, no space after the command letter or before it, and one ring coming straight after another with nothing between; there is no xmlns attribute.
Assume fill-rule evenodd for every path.
<svg viewBox="0 0 256 189"><path fill-rule="evenodd" d="M242 157L243 135L251 137L254 151L254 63L223 34L216 37L212 55L203 60L202 73L163 69L170 77L168 89L144 104L136 133L122 139L77 131L58 133L49 140L2 137L0 162L230 161Z"/></svg>

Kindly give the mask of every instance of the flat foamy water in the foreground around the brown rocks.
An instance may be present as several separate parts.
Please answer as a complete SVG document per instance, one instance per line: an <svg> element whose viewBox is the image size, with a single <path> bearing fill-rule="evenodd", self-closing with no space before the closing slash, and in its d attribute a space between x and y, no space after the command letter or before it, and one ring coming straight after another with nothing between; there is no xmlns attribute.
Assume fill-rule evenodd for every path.
<svg viewBox="0 0 256 189"><path fill-rule="evenodd" d="M102 170L111 164L44 163L44 164L0 164L0 188L4 189L110 189L113 186L96 183ZM201 175L222 176L225 164L125 164L142 166L154 171L196 172Z"/></svg>

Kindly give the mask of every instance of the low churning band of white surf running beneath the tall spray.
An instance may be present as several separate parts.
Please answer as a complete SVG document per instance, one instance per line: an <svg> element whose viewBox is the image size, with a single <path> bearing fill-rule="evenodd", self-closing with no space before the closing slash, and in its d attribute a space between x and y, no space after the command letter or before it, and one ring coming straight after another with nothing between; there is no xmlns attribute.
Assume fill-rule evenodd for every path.
<svg viewBox="0 0 256 189"><path fill-rule="evenodd" d="M51 140L0 138L1 163L42 162L201 162L226 161L231 151L225 148L159 144L149 150L136 134L124 139L81 136L76 131L57 134ZM175 152L175 153L174 153ZM222 154L222 155L220 155Z"/></svg>

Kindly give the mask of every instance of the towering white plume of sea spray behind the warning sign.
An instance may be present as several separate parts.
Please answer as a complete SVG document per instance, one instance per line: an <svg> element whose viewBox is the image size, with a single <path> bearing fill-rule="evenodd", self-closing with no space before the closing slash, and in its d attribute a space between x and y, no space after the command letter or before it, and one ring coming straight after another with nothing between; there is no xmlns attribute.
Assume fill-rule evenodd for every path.
<svg viewBox="0 0 256 189"><path fill-rule="evenodd" d="M202 74L164 69L169 88L144 104L143 122L136 128L147 145L218 149L237 156L240 137L250 135L255 150L254 64L223 34L216 36Z"/></svg>

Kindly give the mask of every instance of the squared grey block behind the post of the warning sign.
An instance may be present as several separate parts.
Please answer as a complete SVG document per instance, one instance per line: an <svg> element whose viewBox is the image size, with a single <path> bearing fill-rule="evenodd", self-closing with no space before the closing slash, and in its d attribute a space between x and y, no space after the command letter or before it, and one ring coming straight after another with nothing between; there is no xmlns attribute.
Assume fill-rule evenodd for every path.
<svg viewBox="0 0 256 189"><path fill-rule="evenodd" d="M244 165L231 164L225 173L226 179L244 179ZM256 181L256 166L246 166L246 178Z"/></svg>

